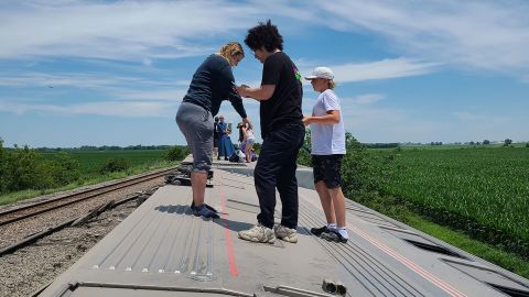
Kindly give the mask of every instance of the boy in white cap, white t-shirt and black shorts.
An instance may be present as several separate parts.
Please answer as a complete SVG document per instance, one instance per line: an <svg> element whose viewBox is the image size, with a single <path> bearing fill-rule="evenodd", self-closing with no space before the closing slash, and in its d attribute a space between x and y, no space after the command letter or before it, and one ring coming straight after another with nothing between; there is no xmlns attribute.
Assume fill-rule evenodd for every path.
<svg viewBox="0 0 529 297"><path fill-rule="evenodd" d="M322 202L327 224L312 228L317 237L335 242L347 242L345 228L345 197L342 193L342 157L345 155L345 128L339 99L334 94L334 74L327 67L317 67L311 80L315 91L320 92L312 116L304 117L303 123L311 125L312 164L314 187Z"/></svg>

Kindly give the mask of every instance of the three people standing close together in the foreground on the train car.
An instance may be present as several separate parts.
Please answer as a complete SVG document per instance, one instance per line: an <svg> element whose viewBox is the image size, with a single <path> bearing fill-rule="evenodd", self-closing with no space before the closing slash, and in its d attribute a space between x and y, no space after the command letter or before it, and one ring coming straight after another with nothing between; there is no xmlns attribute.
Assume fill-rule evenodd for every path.
<svg viewBox="0 0 529 297"><path fill-rule="evenodd" d="M193 75L187 95L176 113L176 122L193 154L192 208L195 216L218 218L214 208L204 202L207 172L212 165L214 135L213 117L223 100L229 100L241 117L246 143L253 143L252 124L242 106L242 98L260 102L260 128L263 140L253 177L260 213L257 224L239 231L242 240L273 243L276 239L298 242L299 196L295 178L298 153L303 144L305 125L312 129L314 184L327 224L311 230L315 235L336 242L348 239L345 229L345 199L341 189L341 161L345 154L345 130L339 100L332 90L334 75L319 67L311 80L321 92L313 112L303 117L302 76L282 51L283 38L270 21L248 30L246 45L263 64L259 87L236 86L231 67L245 57L237 42L224 45L210 55ZM253 140L248 141L253 136ZM274 224L276 189L279 191L281 222Z"/></svg>

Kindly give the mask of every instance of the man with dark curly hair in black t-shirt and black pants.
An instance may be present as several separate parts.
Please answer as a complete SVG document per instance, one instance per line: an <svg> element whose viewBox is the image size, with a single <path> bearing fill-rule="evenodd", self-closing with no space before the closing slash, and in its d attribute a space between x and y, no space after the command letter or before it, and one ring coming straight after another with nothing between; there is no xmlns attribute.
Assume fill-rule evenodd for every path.
<svg viewBox="0 0 529 297"><path fill-rule="evenodd" d="M245 43L263 64L262 80L258 88L240 86L237 91L260 102L263 143L253 172L261 212L257 216L258 224L240 231L239 238L268 243L278 238L295 243L299 211L295 169L305 135L301 75L282 52L283 38L270 20L250 29ZM276 188L281 198L282 215L281 224L274 227Z"/></svg>

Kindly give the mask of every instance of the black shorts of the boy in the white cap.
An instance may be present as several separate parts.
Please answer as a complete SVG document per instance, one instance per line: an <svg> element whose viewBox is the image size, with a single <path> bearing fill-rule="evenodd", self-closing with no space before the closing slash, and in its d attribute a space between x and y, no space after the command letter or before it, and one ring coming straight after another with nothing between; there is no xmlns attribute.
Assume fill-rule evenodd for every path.
<svg viewBox="0 0 529 297"><path fill-rule="evenodd" d="M342 158L344 155L312 155L314 184L320 180L330 189L342 186Z"/></svg>

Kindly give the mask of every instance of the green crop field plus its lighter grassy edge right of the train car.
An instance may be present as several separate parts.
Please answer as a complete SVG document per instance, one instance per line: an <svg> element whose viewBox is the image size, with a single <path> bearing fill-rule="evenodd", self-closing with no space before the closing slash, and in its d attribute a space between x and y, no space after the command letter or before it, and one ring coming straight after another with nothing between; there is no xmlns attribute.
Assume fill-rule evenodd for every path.
<svg viewBox="0 0 529 297"><path fill-rule="evenodd" d="M529 278L529 148L443 146L369 150L381 191L349 197Z"/></svg>

